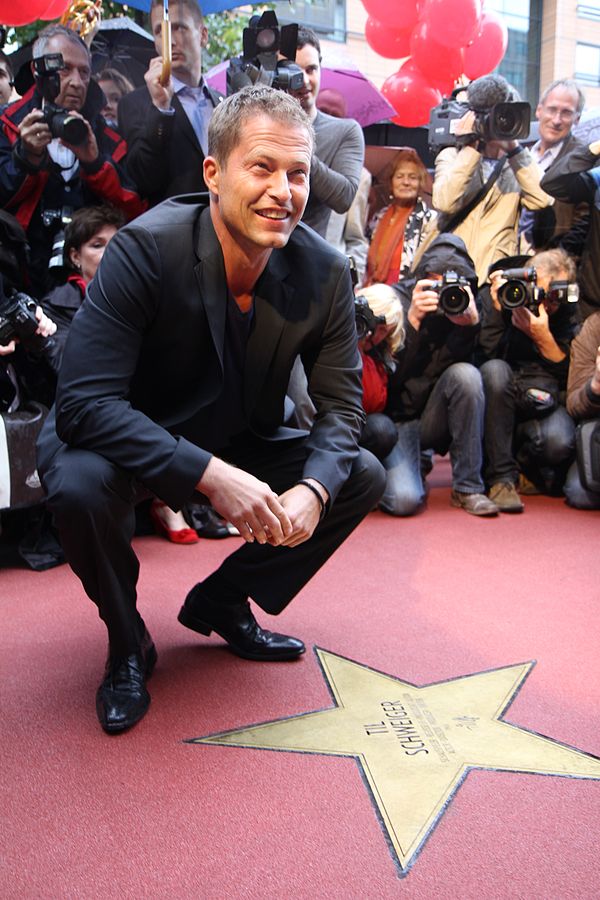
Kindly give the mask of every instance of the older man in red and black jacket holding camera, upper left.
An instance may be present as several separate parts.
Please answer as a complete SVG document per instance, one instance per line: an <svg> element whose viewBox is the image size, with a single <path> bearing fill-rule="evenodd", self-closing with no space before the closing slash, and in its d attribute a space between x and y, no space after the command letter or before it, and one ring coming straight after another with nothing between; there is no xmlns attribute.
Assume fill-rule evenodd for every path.
<svg viewBox="0 0 600 900"><path fill-rule="evenodd" d="M0 117L0 202L26 229L30 289L42 296L49 267L62 266L63 230L76 209L107 202L133 218L145 204L123 168L125 142L100 116L104 95L81 38L45 28L32 70L34 86Z"/></svg>

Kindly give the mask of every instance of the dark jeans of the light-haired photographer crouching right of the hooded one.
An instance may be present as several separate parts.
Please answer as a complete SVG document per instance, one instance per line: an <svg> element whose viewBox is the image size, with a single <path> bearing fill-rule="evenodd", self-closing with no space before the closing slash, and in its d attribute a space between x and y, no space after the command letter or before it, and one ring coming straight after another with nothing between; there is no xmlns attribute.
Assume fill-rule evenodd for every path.
<svg viewBox="0 0 600 900"><path fill-rule="evenodd" d="M542 418L523 420L510 365L492 359L480 371L486 398L486 482L515 484L522 471L542 491L560 493L575 452L575 425L570 415L558 406Z"/></svg>

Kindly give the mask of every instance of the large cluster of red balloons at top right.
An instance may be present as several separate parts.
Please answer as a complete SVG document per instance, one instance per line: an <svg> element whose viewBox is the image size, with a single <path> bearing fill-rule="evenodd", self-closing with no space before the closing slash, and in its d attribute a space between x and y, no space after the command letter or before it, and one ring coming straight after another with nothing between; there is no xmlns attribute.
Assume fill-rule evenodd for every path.
<svg viewBox="0 0 600 900"><path fill-rule="evenodd" d="M381 88L398 125L424 125L458 78L487 75L506 52L506 25L483 0L362 2L369 46L387 59L408 57Z"/></svg>

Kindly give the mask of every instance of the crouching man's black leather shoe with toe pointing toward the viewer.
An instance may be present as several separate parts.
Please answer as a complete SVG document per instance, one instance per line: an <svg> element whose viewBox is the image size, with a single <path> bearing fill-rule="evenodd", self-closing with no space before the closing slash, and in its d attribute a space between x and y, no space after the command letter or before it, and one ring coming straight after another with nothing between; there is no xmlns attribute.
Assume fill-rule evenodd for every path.
<svg viewBox="0 0 600 900"><path fill-rule="evenodd" d="M104 680L96 692L98 720L108 734L131 728L148 711L146 680L156 664L156 648L146 631L138 653L109 656Z"/></svg>

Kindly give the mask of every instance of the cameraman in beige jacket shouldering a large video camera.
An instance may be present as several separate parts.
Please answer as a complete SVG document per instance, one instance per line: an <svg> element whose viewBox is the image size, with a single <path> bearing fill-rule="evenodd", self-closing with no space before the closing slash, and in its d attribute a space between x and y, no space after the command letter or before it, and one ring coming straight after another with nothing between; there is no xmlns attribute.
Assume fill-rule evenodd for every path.
<svg viewBox="0 0 600 900"><path fill-rule="evenodd" d="M540 171L528 150L516 140L482 138L478 122L497 104L518 100L501 75L485 75L467 88L470 109L455 126L457 146L441 150L435 161L433 206L440 232L453 231L465 242L479 283L489 267L517 252L521 206L542 209L553 201L540 187ZM484 129L485 131L485 129ZM469 207L468 214L452 220Z"/></svg>

